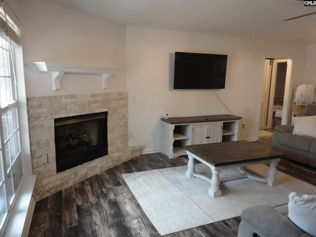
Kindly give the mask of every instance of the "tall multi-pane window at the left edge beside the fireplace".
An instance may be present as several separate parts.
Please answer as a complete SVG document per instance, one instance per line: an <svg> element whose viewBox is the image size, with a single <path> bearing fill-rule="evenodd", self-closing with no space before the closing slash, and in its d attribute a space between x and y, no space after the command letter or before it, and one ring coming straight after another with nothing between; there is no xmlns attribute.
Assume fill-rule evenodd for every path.
<svg viewBox="0 0 316 237"><path fill-rule="evenodd" d="M12 23L2 11L1 8L0 25L2 30L3 26L6 30L0 32L0 230L14 204L22 179L13 46L8 37Z"/></svg>

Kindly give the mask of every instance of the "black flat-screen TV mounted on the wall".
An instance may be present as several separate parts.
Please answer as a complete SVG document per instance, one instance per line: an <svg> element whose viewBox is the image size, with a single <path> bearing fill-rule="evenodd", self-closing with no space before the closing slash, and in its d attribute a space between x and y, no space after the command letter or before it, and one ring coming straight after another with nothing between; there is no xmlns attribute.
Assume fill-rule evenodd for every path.
<svg viewBox="0 0 316 237"><path fill-rule="evenodd" d="M225 88L227 55L175 52L174 89Z"/></svg>

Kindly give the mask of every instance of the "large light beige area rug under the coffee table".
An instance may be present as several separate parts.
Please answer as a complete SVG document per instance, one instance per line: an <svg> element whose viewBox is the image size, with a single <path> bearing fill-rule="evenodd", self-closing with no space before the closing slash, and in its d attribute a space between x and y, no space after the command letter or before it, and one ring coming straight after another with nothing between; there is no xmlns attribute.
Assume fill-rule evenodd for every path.
<svg viewBox="0 0 316 237"><path fill-rule="evenodd" d="M268 166L248 166L257 174L268 173ZM277 172L279 185L270 187L249 178L221 183L222 197L208 195L210 183L185 176L186 166L122 174L133 195L160 235L167 235L197 226L240 216L252 205L281 206L287 204L288 195L316 194L316 187ZM196 165L199 173L210 174L203 164ZM221 175L232 175L237 169L223 170ZM221 177L221 176L220 176Z"/></svg>

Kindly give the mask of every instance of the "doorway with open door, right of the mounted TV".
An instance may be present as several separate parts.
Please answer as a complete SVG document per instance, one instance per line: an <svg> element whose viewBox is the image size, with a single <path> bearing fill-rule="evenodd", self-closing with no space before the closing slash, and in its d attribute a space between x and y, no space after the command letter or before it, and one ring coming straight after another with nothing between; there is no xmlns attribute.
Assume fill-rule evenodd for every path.
<svg viewBox="0 0 316 237"><path fill-rule="evenodd" d="M265 59L259 130L290 122L291 72L291 59Z"/></svg>

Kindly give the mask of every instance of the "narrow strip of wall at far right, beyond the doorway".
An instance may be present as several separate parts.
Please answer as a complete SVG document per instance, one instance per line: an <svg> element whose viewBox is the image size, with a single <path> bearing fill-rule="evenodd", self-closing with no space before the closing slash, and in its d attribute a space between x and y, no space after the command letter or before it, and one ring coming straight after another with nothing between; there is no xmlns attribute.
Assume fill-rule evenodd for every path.
<svg viewBox="0 0 316 237"><path fill-rule="evenodd" d="M316 84L316 44L307 47L304 83Z"/></svg>

